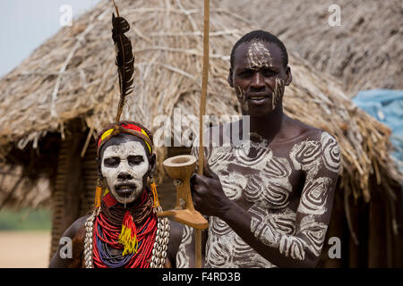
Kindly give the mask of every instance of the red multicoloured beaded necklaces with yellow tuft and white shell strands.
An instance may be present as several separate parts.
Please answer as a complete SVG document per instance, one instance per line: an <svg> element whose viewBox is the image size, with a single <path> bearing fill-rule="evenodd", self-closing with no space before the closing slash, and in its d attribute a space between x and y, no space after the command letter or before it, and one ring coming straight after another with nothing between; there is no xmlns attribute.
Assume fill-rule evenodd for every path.
<svg viewBox="0 0 403 286"><path fill-rule="evenodd" d="M156 213L162 209L153 207L149 191L148 188L143 191L139 202L130 208L117 204L110 193L102 198L100 208L95 209L85 223L86 267L155 268L164 265L170 226L166 217L157 218Z"/></svg>

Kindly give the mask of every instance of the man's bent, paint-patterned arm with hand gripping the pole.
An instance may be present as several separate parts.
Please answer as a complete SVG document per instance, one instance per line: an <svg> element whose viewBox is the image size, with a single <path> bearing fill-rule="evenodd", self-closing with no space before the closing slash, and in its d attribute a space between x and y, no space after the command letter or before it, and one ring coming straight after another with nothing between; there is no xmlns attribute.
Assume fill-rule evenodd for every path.
<svg viewBox="0 0 403 286"><path fill-rule="evenodd" d="M323 133L327 134L327 133ZM304 142L303 142L304 143ZM193 200L202 214L218 216L262 257L279 267L314 267L322 251L330 222L334 189L339 175L337 142L329 137L321 140L320 159L315 164L299 164L306 178L296 212L296 232L293 235L276 230L270 215L264 217L246 212L228 199L219 177L205 165L206 176L193 176ZM294 160L295 159L295 160Z"/></svg>

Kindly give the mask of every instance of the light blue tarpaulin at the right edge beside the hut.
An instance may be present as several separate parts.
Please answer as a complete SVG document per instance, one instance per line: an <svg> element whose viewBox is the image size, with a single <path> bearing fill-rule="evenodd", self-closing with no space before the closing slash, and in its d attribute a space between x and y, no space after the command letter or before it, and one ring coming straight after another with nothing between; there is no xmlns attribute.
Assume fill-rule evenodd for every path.
<svg viewBox="0 0 403 286"><path fill-rule="evenodd" d="M353 102L392 130L393 156L403 172L403 90L370 89L360 91Z"/></svg>

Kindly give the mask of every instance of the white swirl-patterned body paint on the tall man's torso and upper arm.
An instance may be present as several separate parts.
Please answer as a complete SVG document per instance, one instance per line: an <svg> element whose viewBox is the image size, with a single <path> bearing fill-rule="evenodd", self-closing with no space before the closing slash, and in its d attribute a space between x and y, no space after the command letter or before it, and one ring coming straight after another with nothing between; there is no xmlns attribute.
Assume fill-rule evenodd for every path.
<svg viewBox="0 0 403 286"><path fill-rule="evenodd" d="M249 157L249 149L256 156ZM193 154L197 156L196 149ZM210 169L219 176L227 198L246 199L252 203L251 231L256 239L270 248L279 249L285 257L304 260L307 252L318 257L327 231L325 223L315 216L328 210L326 187L339 172L339 147L335 139L322 132L320 139L306 139L290 147L288 156L275 156L266 144L244 143L239 147L212 147L205 154ZM247 168L234 170L233 165ZM306 181L298 207L289 206L293 187L289 181L295 172L305 172ZM296 229L297 215L302 217ZM210 216L205 267L276 267L247 245L227 223ZM187 229L179 248L177 266L186 267L185 244L191 243ZM182 263L186 261L187 263Z"/></svg>

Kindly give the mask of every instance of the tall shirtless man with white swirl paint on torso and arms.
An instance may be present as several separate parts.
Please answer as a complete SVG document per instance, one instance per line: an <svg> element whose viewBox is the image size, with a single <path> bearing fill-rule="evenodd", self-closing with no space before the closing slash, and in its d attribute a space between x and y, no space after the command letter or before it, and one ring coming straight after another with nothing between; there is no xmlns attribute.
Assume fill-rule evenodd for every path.
<svg viewBox="0 0 403 286"><path fill-rule="evenodd" d="M242 114L250 116L250 140L219 145L231 141L242 120L210 128L220 141L210 136L204 175L192 177L194 206L210 223L202 234L204 267L314 267L319 260L339 177L339 146L329 133L283 113L292 81L287 64L286 47L262 30L233 47L228 83ZM193 231L185 226L176 266L193 265Z"/></svg>

